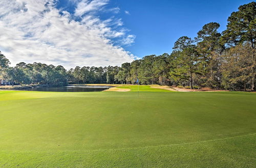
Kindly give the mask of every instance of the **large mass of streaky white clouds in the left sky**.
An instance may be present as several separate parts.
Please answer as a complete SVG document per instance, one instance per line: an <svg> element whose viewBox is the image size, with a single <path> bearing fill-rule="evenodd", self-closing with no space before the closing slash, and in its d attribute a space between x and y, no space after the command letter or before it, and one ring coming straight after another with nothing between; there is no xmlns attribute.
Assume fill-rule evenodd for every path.
<svg viewBox="0 0 256 168"><path fill-rule="evenodd" d="M12 65L41 62L73 68L121 65L136 58L121 47L134 43L135 36L111 28L122 26L121 19L97 15L108 0L72 1L74 15L56 9L55 0L0 1L0 50Z"/></svg>

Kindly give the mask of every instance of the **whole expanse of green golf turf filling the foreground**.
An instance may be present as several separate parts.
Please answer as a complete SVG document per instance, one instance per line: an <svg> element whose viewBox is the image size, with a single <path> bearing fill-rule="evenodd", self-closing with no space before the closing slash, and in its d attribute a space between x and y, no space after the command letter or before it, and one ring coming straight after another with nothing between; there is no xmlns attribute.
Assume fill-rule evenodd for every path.
<svg viewBox="0 0 256 168"><path fill-rule="evenodd" d="M253 167L256 94L0 91L0 167Z"/></svg>

